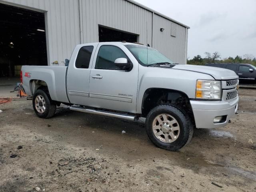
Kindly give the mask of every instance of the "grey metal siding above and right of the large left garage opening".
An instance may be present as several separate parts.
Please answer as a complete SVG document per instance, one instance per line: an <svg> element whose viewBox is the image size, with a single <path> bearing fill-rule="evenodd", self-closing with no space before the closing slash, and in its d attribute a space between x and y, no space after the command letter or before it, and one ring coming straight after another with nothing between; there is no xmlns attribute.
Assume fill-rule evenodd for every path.
<svg viewBox="0 0 256 192"><path fill-rule="evenodd" d="M48 65L58 61L64 65L74 47L80 43L78 0L4 0L40 12L47 12L49 56ZM36 27L36 26L35 26Z"/></svg>

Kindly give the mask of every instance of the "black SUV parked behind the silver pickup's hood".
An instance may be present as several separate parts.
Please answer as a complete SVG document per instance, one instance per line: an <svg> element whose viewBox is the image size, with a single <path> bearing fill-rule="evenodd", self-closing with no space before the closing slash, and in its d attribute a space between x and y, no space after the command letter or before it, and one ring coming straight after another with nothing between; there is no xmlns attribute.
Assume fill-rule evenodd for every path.
<svg viewBox="0 0 256 192"><path fill-rule="evenodd" d="M242 63L206 63L206 66L230 69L239 76L239 83L256 84L256 67Z"/></svg>

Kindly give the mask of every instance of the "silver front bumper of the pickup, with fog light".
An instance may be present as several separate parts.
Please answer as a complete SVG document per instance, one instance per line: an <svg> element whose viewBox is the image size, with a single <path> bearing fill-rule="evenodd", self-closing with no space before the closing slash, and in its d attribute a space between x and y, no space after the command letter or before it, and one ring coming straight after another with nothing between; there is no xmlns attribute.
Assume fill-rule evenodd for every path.
<svg viewBox="0 0 256 192"><path fill-rule="evenodd" d="M228 124L230 118L236 113L238 100L227 101L199 101L190 100L196 128L218 128ZM222 121L214 122L216 117L222 116Z"/></svg>

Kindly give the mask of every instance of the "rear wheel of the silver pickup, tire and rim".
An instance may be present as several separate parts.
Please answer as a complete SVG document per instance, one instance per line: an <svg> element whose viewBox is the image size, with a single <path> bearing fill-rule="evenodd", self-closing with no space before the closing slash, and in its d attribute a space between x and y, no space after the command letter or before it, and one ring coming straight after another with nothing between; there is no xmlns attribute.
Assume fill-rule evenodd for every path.
<svg viewBox="0 0 256 192"><path fill-rule="evenodd" d="M50 98L48 90L38 89L33 95L33 108L40 118L50 118L54 116L56 104Z"/></svg>

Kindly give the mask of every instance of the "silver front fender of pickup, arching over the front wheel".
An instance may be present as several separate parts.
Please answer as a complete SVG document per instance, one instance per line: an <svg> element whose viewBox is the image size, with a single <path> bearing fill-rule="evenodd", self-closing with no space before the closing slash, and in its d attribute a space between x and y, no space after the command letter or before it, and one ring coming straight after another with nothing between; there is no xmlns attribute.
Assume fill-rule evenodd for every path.
<svg viewBox="0 0 256 192"><path fill-rule="evenodd" d="M144 93L149 88L164 88L184 92L188 98L195 98L196 80L214 80L208 74L178 69L144 67L139 68L139 83L136 111L142 113Z"/></svg>

